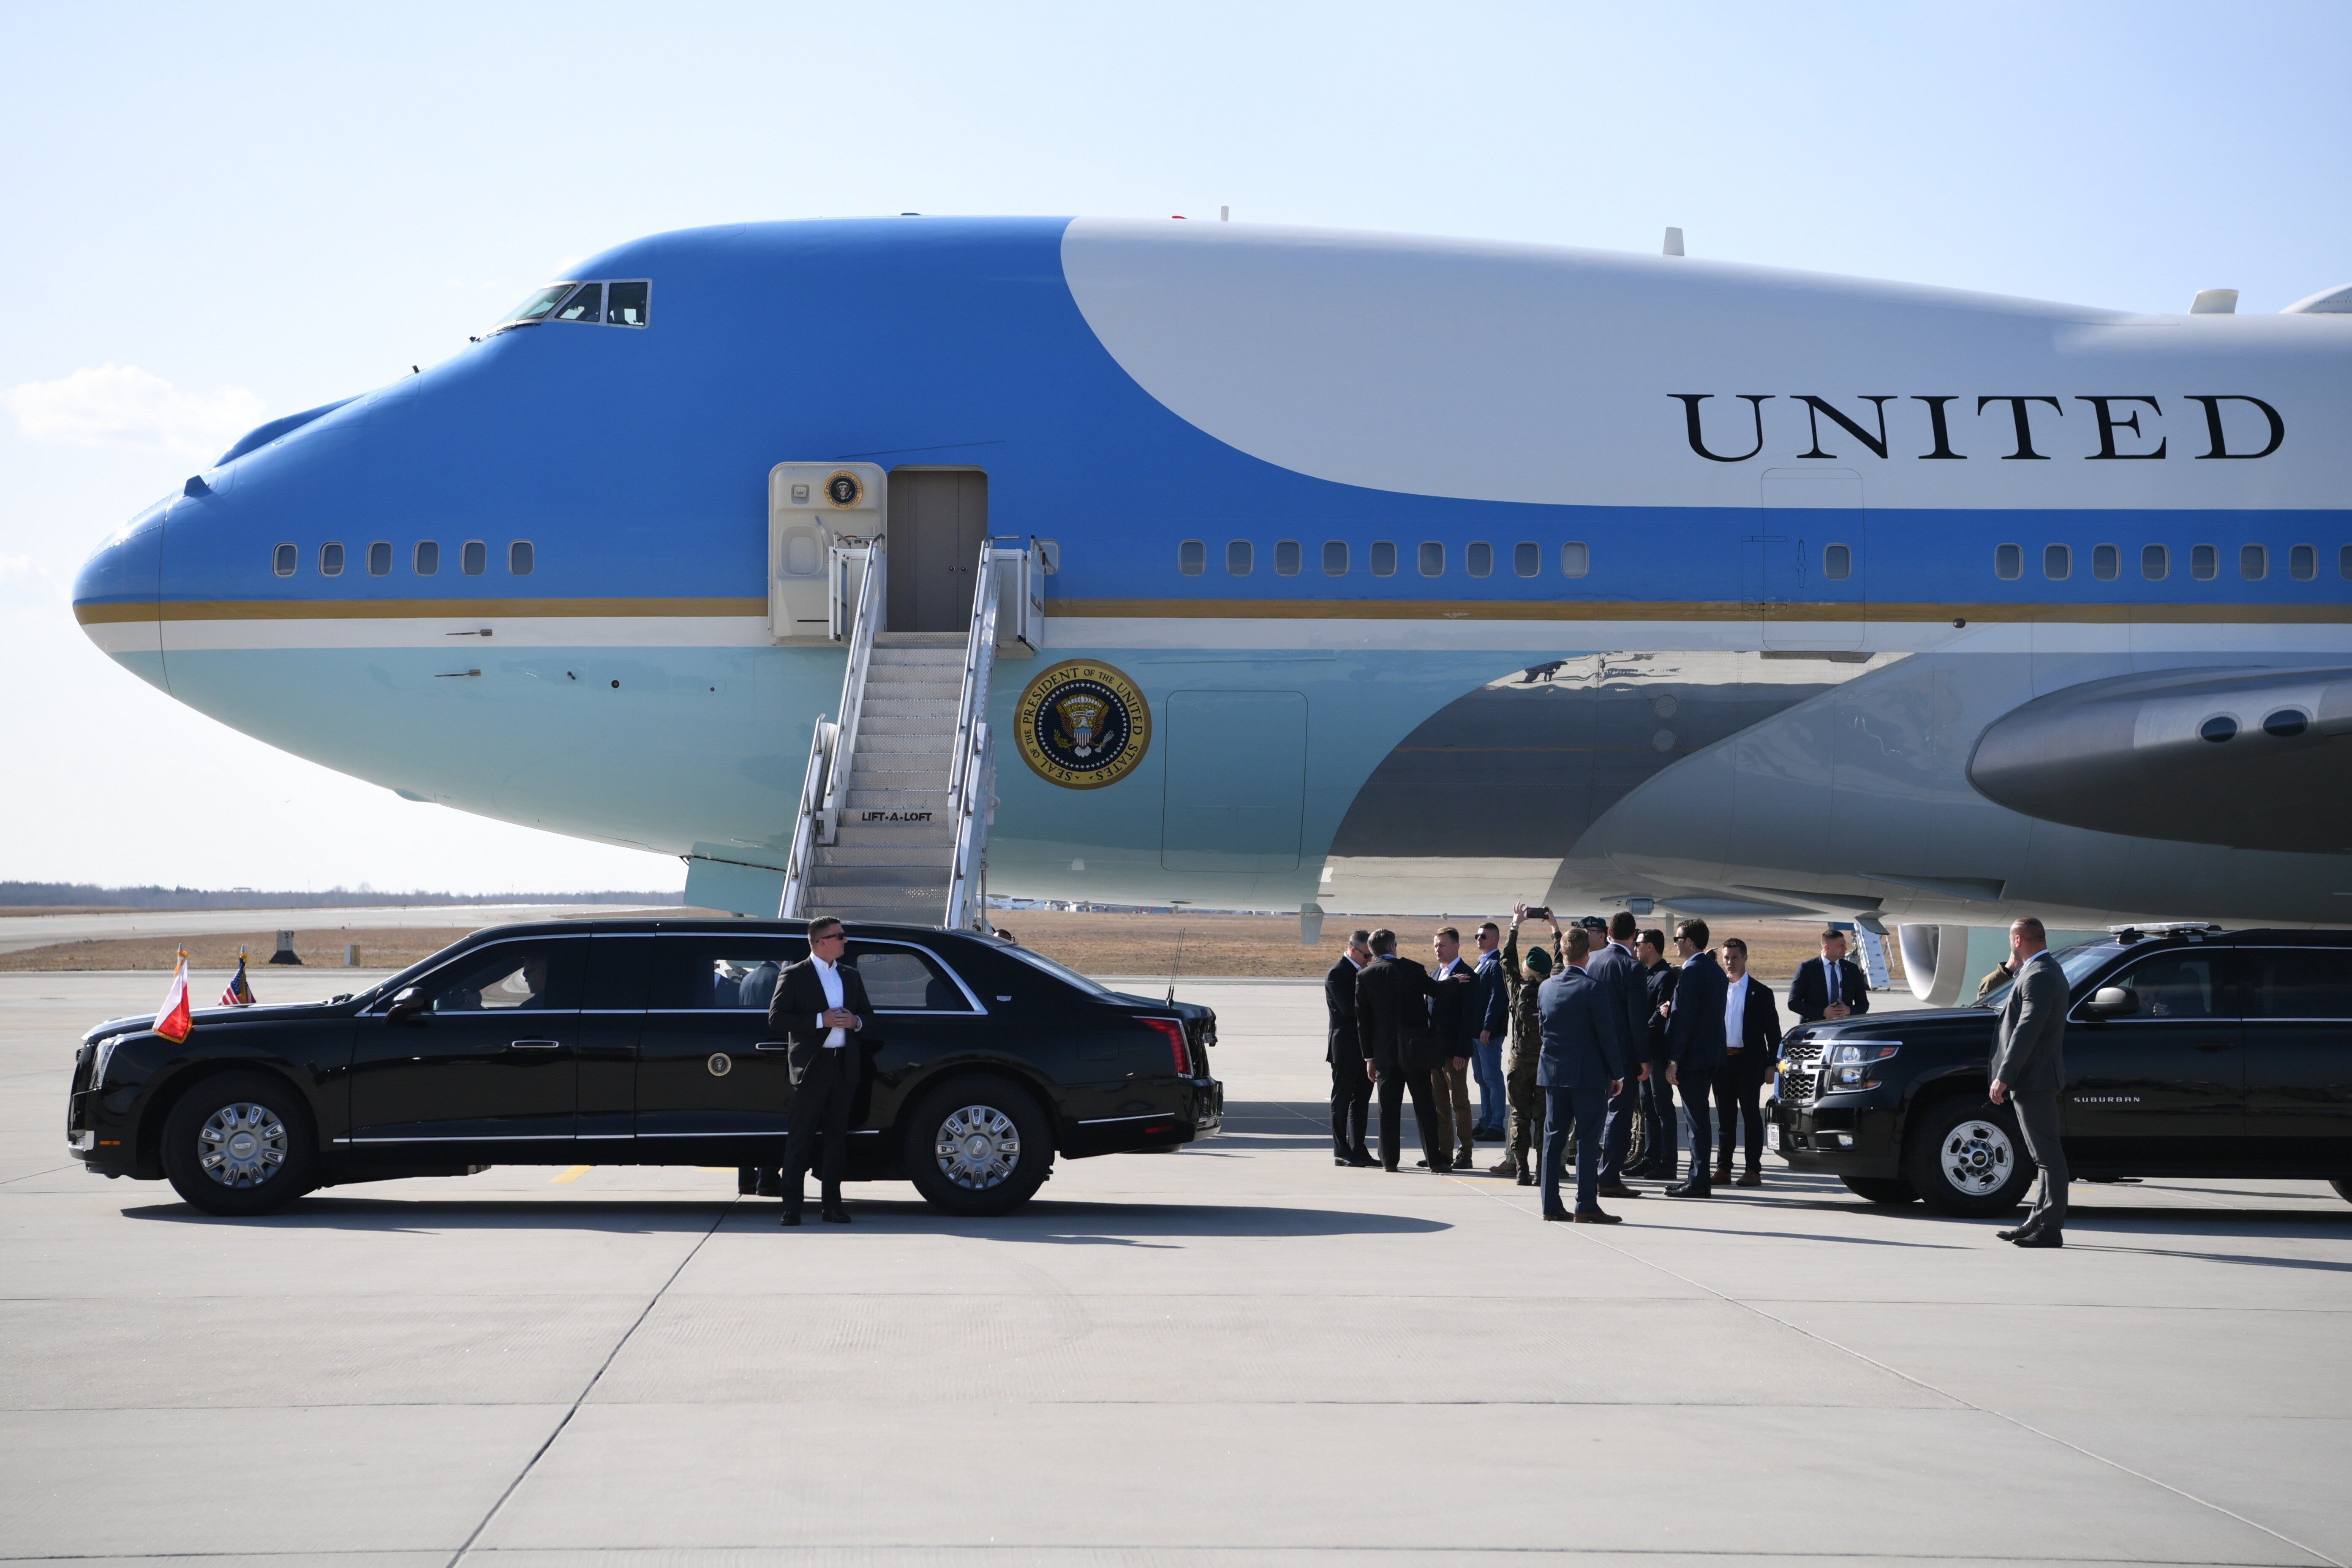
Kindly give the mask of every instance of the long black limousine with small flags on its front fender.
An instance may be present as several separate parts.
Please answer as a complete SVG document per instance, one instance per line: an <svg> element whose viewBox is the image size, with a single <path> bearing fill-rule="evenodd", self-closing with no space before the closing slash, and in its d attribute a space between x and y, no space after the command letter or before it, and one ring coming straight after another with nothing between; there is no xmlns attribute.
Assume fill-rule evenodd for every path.
<svg viewBox="0 0 2352 1568"><path fill-rule="evenodd" d="M506 1164L774 1166L793 1084L767 999L800 922L494 926L374 990L82 1037L66 1138L101 1175L268 1213L315 1187ZM1216 1013L1127 997L1009 940L849 926L877 1013L849 1175L1004 1213L1054 1154L1218 1131Z"/></svg>

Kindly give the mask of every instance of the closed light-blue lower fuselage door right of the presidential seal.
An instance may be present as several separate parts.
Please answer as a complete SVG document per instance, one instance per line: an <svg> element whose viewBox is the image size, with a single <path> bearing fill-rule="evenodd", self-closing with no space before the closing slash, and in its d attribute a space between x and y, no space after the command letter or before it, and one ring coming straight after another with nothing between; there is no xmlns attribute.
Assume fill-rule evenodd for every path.
<svg viewBox="0 0 2352 1568"><path fill-rule="evenodd" d="M1167 701L1160 865L1294 872L1308 783L1298 691L1174 691Z"/></svg>

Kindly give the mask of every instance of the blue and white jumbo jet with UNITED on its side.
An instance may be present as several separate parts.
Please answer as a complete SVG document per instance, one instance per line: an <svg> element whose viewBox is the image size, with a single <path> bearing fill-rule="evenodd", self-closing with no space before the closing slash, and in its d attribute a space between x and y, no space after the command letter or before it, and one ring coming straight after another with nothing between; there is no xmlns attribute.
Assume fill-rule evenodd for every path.
<svg viewBox="0 0 2352 1568"><path fill-rule="evenodd" d="M75 611L699 905L953 924L985 856L1903 924L1950 992L2013 912L2352 922L2347 508L2352 289L901 216L621 244L240 440Z"/></svg>

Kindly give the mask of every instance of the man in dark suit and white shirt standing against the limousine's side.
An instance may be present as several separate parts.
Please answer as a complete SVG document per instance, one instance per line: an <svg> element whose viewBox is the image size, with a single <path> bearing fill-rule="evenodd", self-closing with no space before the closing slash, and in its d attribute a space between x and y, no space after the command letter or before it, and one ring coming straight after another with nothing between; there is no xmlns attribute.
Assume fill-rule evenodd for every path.
<svg viewBox="0 0 2352 1568"><path fill-rule="evenodd" d="M849 1225L849 1211L842 1208L849 1103L866 1067L866 1048L882 1041L866 1032L873 1004L858 971L842 961L847 947L842 922L811 919L809 957L776 978L776 997L767 1004L769 1034L783 1037L793 1072L793 1114L783 1140L786 1225L800 1225L800 1178L811 1157L818 1164L821 1218Z"/></svg>

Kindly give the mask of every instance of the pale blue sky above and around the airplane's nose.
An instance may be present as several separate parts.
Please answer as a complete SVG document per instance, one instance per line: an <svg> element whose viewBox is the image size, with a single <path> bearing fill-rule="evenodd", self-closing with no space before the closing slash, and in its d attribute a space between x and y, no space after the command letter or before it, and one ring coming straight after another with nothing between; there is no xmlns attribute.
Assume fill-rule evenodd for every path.
<svg viewBox="0 0 2352 1568"><path fill-rule="evenodd" d="M223 430L440 360L633 235L1230 205L1613 249L1675 223L1700 256L2133 310L2352 282L2340 2L0 14L0 877L680 882L245 741L64 602Z"/></svg>

